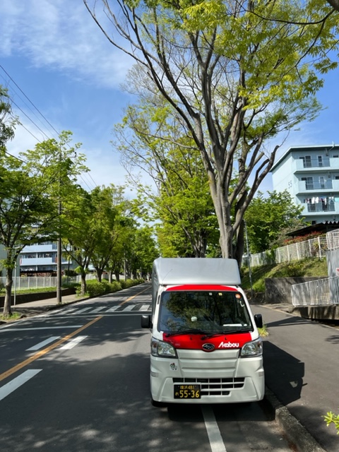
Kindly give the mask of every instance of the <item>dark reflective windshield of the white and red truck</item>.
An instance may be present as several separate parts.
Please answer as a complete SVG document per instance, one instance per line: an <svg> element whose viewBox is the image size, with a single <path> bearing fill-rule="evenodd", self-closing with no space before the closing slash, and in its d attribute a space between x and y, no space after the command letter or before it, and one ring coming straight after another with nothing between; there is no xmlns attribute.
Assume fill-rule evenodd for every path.
<svg viewBox="0 0 339 452"><path fill-rule="evenodd" d="M227 333L252 329L249 312L239 292L170 291L160 301L159 331Z"/></svg>

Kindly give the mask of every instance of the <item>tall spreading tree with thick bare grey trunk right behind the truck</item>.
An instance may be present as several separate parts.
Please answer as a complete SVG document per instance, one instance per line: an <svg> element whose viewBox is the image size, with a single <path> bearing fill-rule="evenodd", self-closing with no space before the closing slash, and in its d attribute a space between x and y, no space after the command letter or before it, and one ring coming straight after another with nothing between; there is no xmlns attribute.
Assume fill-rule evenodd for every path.
<svg viewBox="0 0 339 452"><path fill-rule="evenodd" d="M330 6L314 10L295 0L102 0L114 35L100 23L95 6L83 1L107 39L148 77L143 88L162 95L171 123L194 141L218 218L222 256L240 263L244 213L279 148L264 143L320 111L314 95L323 81L311 64L323 72L335 66L327 54L338 48L338 25L334 15L319 21Z"/></svg>

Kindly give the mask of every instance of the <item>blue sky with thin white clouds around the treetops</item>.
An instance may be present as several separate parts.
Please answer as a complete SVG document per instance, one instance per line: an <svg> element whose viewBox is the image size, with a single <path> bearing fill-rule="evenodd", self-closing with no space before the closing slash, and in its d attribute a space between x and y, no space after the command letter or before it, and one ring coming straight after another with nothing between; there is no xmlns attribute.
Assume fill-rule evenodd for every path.
<svg viewBox="0 0 339 452"><path fill-rule="evenodd" d="M45 118L57 131L72 131L74 143L83 143L90 168L85 189L125 184L126 172L110 141L129 102L120 86L133 61L109 44L82 0L2 0L0 30L0 84L8 88L23 124L8 150L18 153L33 148L36 138L57 138ZM300 124L283 144L282 138L269 143L268 152L275 144L282 144L280 157L292 145L339 143L338 79L339 69L326 76L318 95L326 109L319 117ZM268 176L260 190L272 189Z"/></svg>

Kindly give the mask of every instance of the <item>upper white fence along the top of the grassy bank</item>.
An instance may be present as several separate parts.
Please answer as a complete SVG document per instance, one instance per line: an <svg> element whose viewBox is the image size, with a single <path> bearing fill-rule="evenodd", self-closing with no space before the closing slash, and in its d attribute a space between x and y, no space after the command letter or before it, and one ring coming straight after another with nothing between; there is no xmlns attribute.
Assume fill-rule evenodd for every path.
<svg viewBox="0 0 339 452"><path fill-rule="evenodd" d="M334 232L334 231L333 231ZM338 231L339 243L339 231ZM339 246L338 246L339 247ZM251 266L263 266L270 263L281 263L290 261L300 261L307 257L323 258L328 250L326 236L316 237L316 239L297 242L271 251L251 255ZM244 259L246 261L246 259Z"/></svg>

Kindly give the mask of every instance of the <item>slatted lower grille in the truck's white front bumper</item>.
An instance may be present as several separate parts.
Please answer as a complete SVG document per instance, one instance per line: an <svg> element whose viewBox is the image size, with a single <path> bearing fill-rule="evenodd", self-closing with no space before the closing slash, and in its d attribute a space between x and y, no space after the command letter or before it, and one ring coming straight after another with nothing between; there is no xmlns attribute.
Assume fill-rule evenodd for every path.
<svg viewBox="0 0 339 452"><path fill-rule="evenodd" d="M228 396L231 389L244 388L244 378L192 379L174 378L173 383L200 384L201 396Z"/></svg>

